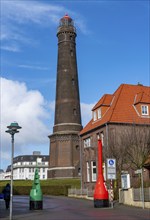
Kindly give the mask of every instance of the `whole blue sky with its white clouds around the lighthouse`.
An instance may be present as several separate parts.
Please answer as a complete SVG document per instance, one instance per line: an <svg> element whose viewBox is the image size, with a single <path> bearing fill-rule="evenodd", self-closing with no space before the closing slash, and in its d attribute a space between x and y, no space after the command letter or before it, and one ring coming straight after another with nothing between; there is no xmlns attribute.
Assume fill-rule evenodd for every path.
<svg viewBox="0 0 150 220"><path fill-rule="evenodd" d="M10 164L7 125L17 121L15 156L49 153L54 124L57 27L66 13L77 29L83 126L93 105L122 83L149 86L149 1L1 0L0 168Z"/></svg>

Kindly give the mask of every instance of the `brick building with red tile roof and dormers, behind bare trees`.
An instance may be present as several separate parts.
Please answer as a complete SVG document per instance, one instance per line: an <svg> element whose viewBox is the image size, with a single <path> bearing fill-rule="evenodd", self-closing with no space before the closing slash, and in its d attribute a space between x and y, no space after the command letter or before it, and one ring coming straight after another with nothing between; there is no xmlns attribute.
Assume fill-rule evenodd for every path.
<svg viewBox="0 0 150 220"><path fill-rule="evenodd" d="M147 141L148 134L150 134L150 87L140 84L121 84L113 94L104 94L100 98L92 109L92 119L80 132L82 184L85 188L92 189L96 181L97 139L101 138L104 151L106 148L107 150L115 148L119 144L122 145L120 151L123 151L127 142L129 145L129 140L125 139L130 139L130 141L137 139L135 136L133 138L133 127L136 127L136 132L135 130L134 132L138 139L141 139L139 142L143 141L144 137ZM114 156L115 153L112 152L113 150L111 155L107 152L107 156ZM106 152L104 152L104 160L105 154ZM119 158L119 154L115 156L118 157L117 162L121 171L123 167L120 161L123 159Z"/></svg>

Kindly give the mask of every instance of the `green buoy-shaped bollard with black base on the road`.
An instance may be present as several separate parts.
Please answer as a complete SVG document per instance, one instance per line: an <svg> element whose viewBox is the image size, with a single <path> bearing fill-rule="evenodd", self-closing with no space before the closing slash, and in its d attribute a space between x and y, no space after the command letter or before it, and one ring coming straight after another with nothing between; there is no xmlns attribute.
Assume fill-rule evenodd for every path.
<svg viewBox="0 0 150 220"><path fill-rule="evenodd" d="M36 168L34 182L30 191L30 210L39 209L43 209L43 194L40 186L38 168Z"/></svg>

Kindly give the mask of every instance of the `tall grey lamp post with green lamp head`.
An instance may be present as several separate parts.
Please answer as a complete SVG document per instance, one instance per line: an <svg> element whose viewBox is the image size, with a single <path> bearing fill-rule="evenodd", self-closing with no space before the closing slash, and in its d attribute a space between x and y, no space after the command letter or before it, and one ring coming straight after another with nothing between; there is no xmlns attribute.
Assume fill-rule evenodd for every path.
<svg viewBox="0 0 150 220"><path fill-rule="evenodd" d="M17 122L11 123L7 126L8 130L6 131L11 135L11 143L12 143L12 150L11 150L11 188L10 188L10 215L9 219L12 220L12 204L13 204L13 157L14 157L14 135L19 131L17 129L21 129Z"/></svg>

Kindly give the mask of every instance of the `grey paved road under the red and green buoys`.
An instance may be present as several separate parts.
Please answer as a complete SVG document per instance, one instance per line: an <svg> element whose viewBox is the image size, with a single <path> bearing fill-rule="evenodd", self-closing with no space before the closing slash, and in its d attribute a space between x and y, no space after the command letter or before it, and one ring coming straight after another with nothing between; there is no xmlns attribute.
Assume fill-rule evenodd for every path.
<svg viewBox="0 0 150 220"><path fill-rule="evenodd" d="M4 201L0 218L9 219ZM114 208L94 208L93 201L61 196L44 196L43 210L29 210L28 196L14 196L13 219L20 220L150 220L150 210L114 204Z"/></svg>

